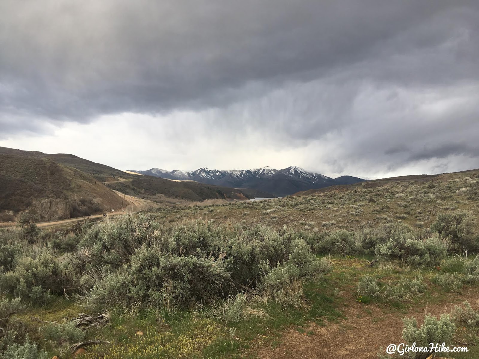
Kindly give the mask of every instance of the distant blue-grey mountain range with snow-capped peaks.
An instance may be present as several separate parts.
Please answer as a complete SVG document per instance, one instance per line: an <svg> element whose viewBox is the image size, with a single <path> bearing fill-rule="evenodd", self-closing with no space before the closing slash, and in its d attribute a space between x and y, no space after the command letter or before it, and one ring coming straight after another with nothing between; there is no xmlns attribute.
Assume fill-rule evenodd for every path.
<svg viewBox="0 0 479 359"><path fill-rule="evenodd" d="M353 176L331 178L319 173L309 172L297 166L279 170L271 167L233 170L202 167L194 171L178 169L169 171L161 168L151 168L147 171L129 171L164 179L194 180L217 186L250 188L270 192L276 196L285 196L298 191L308 191L340 184L352 184L365 180Z"/></svg>

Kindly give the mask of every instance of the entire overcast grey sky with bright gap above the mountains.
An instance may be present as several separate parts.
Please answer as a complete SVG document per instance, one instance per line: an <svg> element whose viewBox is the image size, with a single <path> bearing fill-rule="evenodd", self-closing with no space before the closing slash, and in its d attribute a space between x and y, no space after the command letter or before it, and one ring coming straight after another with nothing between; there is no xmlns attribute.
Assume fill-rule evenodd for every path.
<svg viewBox="0 0 479 359"><path fill-rule="evenodd" d="M478 138L477 0L0 2L0 146L378 178Z"/></svg>

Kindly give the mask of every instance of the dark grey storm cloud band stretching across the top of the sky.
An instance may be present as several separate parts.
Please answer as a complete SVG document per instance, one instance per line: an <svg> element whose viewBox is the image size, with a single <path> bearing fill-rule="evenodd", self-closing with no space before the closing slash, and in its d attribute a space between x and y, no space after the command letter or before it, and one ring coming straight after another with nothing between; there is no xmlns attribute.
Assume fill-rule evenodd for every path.
<svg viewBox="0 0 479 359"><path fill-rule="evenodd" d="M274 86L351 64L365 63L363 76L371 70L394 76L367 64L384 52L442 44L457 28L475 31L472 3L5 0L1 106L81 121L109 112L224 106L248 96L240 90L249 81ZM447 77L436 65L413 77ZM402 77L404 69L395 68ZM455 80L466 75L453 72Z"/></svg>

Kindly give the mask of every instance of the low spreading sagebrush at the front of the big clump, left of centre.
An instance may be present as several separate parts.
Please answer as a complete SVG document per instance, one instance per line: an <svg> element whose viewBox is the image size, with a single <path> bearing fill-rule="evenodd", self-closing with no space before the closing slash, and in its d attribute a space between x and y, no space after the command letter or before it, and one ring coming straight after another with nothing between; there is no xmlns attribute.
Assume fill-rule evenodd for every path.
<svg viewBox="0 0 479 359"><path fill-rule="evenodd" d="M125 307L142 303L170 309L226 296L231 287L223 258L176 256L145 246L123 268L94 286L91 301Z"/></svg>

